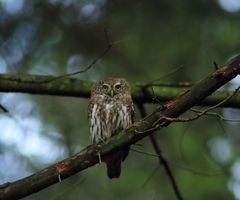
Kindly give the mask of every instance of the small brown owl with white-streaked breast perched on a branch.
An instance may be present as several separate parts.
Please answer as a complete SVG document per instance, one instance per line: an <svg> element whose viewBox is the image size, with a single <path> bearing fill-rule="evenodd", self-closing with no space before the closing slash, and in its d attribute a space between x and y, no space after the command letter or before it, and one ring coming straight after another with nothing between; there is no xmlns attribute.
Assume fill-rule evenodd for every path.
<svg viewBox="0 0 240 200"><path fill-rule="evenodd" d="M125 79L108 78L97 81L91 90L88 118L93 144L104 142L133 123L134 107L130 88ZM129 147L104 160L109 178L118 178L121 163Z"/></svg>

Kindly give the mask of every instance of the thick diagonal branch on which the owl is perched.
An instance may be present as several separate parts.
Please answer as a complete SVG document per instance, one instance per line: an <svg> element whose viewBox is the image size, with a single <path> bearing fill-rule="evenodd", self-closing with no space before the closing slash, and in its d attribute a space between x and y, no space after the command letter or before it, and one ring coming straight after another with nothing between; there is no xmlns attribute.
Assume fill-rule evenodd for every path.
<svg viewBox="0 0 240 200"><path fill-rule="evenodd" d="M166 117L178 117L195 104L201 102L219 87L236 77L240 73L240 56L237 56L224 67L216 70L213 74L199 81L191 89L187 90L178 98L163 105L165 110L156 109L141 121L134 123L128 129L112 137L106 143L91 145L79 153L47 167L29 177L0 187L1 200L14 200L40 191L61 179L65 179L77 172L85 170L98 163L99 153L101 158L133 144L142 138L160 130L171 122Z"/></svg>

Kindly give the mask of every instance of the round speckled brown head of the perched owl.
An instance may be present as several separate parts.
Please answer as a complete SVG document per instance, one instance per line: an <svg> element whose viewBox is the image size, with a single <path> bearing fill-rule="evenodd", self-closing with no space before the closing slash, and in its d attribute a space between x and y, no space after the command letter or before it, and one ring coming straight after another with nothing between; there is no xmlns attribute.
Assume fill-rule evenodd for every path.
<svg viewBox="0 0 240 200"><path fill-rule="evenodd" d="M91 95L105 94L114 97L117 94L130 94L128 82L122 78L108 78L97 81L91 91Z"/></svg>

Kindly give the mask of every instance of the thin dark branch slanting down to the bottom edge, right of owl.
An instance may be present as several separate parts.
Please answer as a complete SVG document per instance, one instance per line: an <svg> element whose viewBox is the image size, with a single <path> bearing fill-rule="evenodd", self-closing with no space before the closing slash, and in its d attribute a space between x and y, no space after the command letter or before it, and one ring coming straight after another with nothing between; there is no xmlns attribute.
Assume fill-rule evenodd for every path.
<svg viewBox="0 0 240 200"><path fill-rule="evenodd" d="M147 113L146 113L146 109L145 109L144 105L143 105L143 104L138 104L138 109L139 109L139 111L140 111L141 118L145 118L145 117L147 116ZM167 174L167 176L168 176L168 178L169 178L169 181L170 181L171 186L172 186L172 188L173 188L173 191L174 191L174 194L175 194L175 196L176 196L176 199L178 199L178 200L183 200L182 194L181 194L181 192L180 192L180 190L179 190L179 187L178 187L177 182L176 182L176 180L175 180L175 178L174 178L174 175L173 175L173 173L172 173L172 170L171 170L171 168L169 167L166 159L165 159L164 156L162 155L162 151L161 151L161 149L160 149L160 145L159 145L158 142L157 142L157 139L154 137L153 134L150 134L150 135L149 135L149 139L150 139L150 141L151 141L151 143L152 143L152 146L153 146L155 152L156 152L157 155L158 155L159 164L162 165L163 168L165 169L165 172L166 172L166 174Z"/></svg>

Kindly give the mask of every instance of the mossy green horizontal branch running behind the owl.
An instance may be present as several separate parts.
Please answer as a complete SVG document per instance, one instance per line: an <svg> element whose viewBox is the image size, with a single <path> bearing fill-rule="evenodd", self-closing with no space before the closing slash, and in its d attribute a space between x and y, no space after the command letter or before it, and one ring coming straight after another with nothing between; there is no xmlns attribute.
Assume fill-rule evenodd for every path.
<svg viewBox="0 0 240 200"><path fill-rule="evenodd" d="M21 92L30 94L60 95L88 98L94 81L54 76L0 74L0 92ZM190 87L189 87L190 88ZM186 87L131 85L133 100L136 103L158 103L173 99L183 93ZM227 96L229 91L217 91L197 105L212 106ZM156 100L157 99L157 100ZM239 108L240 95L235 95L223 104L224 107Z"/></svg>

